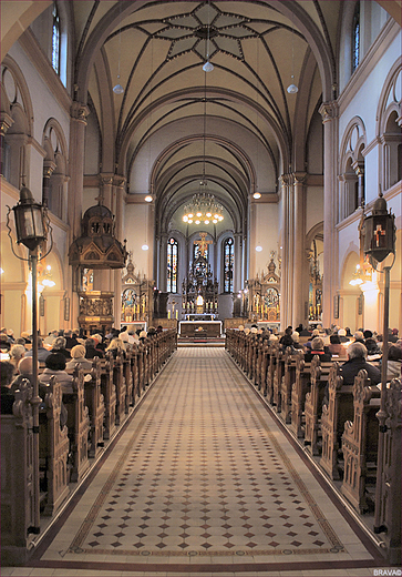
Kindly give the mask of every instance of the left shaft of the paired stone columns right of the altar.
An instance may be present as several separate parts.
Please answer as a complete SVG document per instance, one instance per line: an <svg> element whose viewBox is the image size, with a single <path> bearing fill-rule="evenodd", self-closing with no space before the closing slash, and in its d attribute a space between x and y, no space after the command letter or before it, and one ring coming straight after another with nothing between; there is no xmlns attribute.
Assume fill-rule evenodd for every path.
<svg viewBox="0 0 402 577"><path fill-rule="evenodd" d="M280 280L280 330L291 324L292 300L293 300L293 206L292 206L292 183L291 174L280 176L281 202L282 202L282 275Z"/></svg>

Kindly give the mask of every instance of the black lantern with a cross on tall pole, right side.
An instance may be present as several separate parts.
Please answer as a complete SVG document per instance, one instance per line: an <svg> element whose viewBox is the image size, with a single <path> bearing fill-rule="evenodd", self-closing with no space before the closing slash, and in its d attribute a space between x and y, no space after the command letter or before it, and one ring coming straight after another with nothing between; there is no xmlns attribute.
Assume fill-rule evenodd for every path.
<svg viewBox="0 0 402 577"><path fill-rule="evenodd" d="M383 488L383 458L384 458L384 433L386 433L386 367L388 367L388 332L390 314L390 272L395 262L395 216L388 212L386 201L380 192L374 202L373 211L370 216L364 219L364 254L370 260L373 269L378 271L378 263L383 263L389 255L391 262L383 265L384 272L384 316L382 335L382 360L381 360L381 405L377 413L379 419L379 448L377 459L377 484L375 484L375 512L374 512L374 533L383 533L386 527L381 525L381 503ZM398 489L399 490L399 489ZM390 497L391 498L391 497Z"/></svg>

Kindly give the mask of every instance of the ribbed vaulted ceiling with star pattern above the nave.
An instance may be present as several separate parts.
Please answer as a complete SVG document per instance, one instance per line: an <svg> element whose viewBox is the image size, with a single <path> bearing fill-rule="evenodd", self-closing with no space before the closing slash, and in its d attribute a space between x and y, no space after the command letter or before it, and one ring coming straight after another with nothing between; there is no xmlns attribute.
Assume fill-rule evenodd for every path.
<svg viewBox="0 0 402 577"><path fill-rule="evenodd" d="M295 132L303 148L317 105L337 95L340 1L72 4L76 98L96 112L102 168L167 219L204 173L233 217L256 190L276 193L297 170Z"/></svg>

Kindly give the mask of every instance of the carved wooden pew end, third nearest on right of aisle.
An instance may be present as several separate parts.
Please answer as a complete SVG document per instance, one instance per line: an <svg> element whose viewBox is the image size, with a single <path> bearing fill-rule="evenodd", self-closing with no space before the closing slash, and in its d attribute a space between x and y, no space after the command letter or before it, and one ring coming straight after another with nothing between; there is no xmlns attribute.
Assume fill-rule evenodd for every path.
<svg viewBox="0 0 402 577"><path fill-rule="evenodd" d="M353 385L343 385L341 370L333 363L329 379L329 403L321 416L323 470L331 479L339 479L338 452L341 447L344 423L353 418Z"/></svg>

